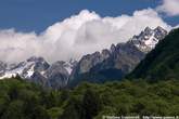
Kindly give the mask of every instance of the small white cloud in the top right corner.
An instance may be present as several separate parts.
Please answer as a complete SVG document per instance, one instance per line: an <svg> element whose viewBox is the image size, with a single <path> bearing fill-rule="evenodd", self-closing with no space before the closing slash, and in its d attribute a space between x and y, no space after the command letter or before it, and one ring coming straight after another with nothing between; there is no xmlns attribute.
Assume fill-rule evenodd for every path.
<svg viewBox="0 0 179 119"><path fill-rule="evenodd" d="M162 5L157 6L156 11L169 16L179 15L179 0L163 0Z"/></svg>

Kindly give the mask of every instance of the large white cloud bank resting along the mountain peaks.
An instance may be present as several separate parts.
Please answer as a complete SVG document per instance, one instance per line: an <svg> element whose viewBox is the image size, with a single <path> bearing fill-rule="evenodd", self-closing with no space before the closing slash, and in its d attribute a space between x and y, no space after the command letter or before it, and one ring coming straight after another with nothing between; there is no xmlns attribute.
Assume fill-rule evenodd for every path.
<svg viewBox="0 0 179 119"><path fill-rule="evenodd" d="M43 56L49 62L69 58L110 48L112 43L126 42L146 26L170 29L152 10L136 11L132 15L101 17L88 10L59 22L40 35L0 30L0 60L18 62L29 56Z"/></svg>

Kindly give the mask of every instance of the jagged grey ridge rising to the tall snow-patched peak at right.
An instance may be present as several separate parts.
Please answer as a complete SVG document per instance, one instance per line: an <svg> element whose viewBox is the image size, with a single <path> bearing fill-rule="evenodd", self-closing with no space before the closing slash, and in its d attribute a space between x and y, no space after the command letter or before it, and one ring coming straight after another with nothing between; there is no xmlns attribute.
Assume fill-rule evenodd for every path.
<svg viewBox="0 0 179 119"><path fill-rule="evenodd" d="M85 55L73 70L69 85L76 85L84 80L90 82L120 80L166 35L167 31L159 26L155 29L146 27L126 43L112 44L110 50Z"/></svg>

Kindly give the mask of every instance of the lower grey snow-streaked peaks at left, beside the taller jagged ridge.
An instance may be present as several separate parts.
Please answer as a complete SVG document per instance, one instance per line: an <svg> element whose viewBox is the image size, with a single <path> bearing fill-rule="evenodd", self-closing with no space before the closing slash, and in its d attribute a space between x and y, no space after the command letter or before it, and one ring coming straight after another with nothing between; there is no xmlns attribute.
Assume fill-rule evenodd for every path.
<svg viewBox="0 0 179 119"><path fill-rule="evenodd" d="M11 78L17 74L28 81L41 84L52 89L66 87L69 74L77 62L71 60L66 62L56 62L49 64L43 57L29 57L17 64L5 64L0 62L0 78Z"/></svg>

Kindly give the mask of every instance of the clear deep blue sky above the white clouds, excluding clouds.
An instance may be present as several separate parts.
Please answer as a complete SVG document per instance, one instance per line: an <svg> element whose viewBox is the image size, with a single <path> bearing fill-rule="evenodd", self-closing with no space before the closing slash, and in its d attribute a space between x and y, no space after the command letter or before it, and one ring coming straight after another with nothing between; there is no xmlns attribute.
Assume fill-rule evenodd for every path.
<svg viewBox="0 0 179 119"><path fill-rule="evenodd" d="M101 16L118 16L161 3L161 0L0 0L0 28L41 32L85 9ZM163 16L163 19L175 26L179 16Z"/></svg>

